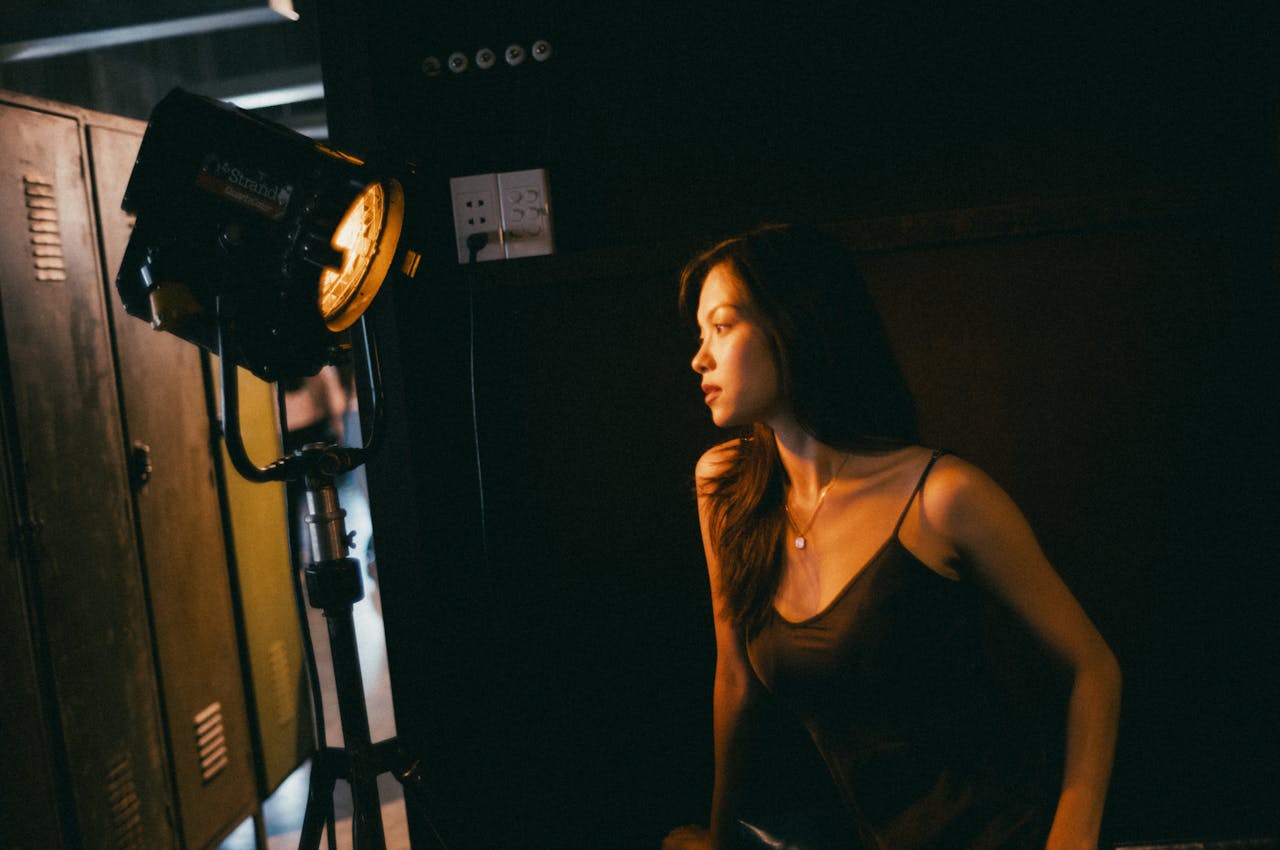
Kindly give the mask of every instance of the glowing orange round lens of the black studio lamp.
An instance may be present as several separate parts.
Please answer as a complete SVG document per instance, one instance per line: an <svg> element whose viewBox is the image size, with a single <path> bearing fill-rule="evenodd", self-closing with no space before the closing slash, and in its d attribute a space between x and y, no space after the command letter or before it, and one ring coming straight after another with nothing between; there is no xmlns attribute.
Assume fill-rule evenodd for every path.
<svg viewBox="0 0 1280 850"><path fill-rule="evenodd" d="M329 330L346 330L378 294L399 243L404 191L396 180L370 183L347 207L330 245L342 266L320 271L320 315Z"/></svg>

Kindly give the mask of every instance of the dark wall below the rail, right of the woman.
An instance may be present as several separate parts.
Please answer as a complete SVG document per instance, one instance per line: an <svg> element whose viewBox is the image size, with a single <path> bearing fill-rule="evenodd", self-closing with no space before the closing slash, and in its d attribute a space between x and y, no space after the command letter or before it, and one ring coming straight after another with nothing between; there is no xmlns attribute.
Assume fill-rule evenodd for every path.
<svg viewBox="0 0 1280 850"><path fill-rule="evenodd" d="M1267 245L1194 215L864 259L927 442L1012 493L1120 658L1115 837L1275 830Z"/></svg>

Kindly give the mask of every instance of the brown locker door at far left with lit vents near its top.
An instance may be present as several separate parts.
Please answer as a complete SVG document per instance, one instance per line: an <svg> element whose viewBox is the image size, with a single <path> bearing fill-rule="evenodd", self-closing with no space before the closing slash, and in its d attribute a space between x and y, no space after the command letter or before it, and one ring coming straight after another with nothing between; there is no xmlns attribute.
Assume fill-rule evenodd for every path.
<svg viewBox="0 0 1280 850"><path fill-rule="evenodd" d="M0 150L9 462L32 530L23 568L56 707L51 735L65 755L68 842L173 846L79 128L0 102Z"/></svg>

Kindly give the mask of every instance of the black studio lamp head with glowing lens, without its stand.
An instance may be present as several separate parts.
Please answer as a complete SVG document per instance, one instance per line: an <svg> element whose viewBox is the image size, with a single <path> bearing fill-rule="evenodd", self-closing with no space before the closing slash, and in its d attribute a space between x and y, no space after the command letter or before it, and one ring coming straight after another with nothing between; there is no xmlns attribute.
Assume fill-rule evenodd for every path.
<svg viewBox="0 0 1280 850"><path fill-rule="evenodd" d="M265 380L315 374L383 283L416 271L406 177L174 90L123 200L124 307L210 351L221 333L223 356Z"/></svg>

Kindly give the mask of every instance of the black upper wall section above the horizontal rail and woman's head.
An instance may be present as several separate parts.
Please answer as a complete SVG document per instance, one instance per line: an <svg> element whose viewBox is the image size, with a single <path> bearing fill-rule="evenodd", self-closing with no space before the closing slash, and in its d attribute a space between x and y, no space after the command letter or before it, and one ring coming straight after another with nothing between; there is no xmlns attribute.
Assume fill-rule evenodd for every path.
<svg viewBox="0 0 1280 850"><path fill-rule="evenodd" d="M1240 179L1270 150L1267 5L383 0L351 47L371 93L334 79L329 109L442 180L549 169L563 250ZM544 63L422 72L538 38Z"/></svg>

